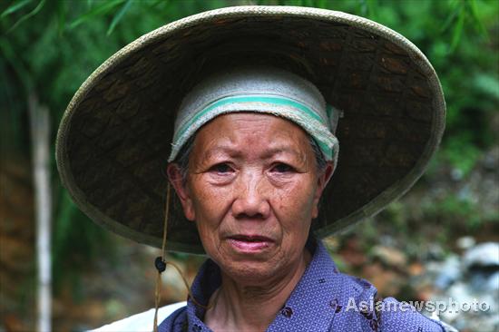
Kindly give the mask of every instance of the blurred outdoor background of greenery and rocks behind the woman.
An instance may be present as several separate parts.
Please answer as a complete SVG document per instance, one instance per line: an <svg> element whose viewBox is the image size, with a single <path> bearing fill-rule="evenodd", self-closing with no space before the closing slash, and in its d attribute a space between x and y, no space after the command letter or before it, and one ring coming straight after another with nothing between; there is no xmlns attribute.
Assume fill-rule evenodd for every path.
<svg viewBox="0 0 499 332"><path fill-rule="evenodd" d="M0 331L39 328L43 293L51 300L44 306L52 308L54 331L99 327L154 306L159 250L104 231L74 207L55 168L55 134L73 93L110 55L162 24L227 5L304 5L362 15L404 34L426 54L447 103L440 151L404 198L326 243L343 272L367 278L382 296L476 298L491 308L440 317L462 331L499 330L499 1L5 0ZM203 261L171 259L190 281ZM37 271L44 265L51 273L41 282ZM162 305L186 298L174 270L163 280Z"/></svg>

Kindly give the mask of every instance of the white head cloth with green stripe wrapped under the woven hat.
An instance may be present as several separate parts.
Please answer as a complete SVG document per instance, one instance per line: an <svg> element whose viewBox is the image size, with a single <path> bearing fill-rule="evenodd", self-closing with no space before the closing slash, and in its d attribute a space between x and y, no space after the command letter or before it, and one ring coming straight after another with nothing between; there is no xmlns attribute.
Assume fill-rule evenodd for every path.
<svg viewBox="0 0 499 332"><path fill-rule="evenodd" d="M318 88L287 71L267 66L245 66L201 81L183 99L170 158L203 124L230 112L273 114L298 124L317 142L326 161L338 160L338 110L328 106Z"/></svg>

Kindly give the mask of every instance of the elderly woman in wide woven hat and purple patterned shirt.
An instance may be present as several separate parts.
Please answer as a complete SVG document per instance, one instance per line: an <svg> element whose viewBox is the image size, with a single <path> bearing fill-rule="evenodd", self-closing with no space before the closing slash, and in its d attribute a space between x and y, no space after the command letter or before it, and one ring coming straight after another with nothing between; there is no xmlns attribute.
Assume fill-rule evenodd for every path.
<svg viewBox="0 0 499 332"><path fill-rule="evenodd" d="M430 63L386 27L230 7L103 63L65 113L57 159L93 220L209 257L160 331L444 331L339 273L320 241L410 188L444 114Z"/></svg>

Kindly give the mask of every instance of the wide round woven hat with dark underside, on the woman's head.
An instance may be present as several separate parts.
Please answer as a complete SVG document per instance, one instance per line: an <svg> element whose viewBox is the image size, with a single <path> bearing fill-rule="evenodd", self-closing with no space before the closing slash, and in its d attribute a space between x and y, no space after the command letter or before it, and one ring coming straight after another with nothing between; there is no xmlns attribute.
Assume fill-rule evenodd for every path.
<svg viewBox="0 0 499 332"><path fill-rule="evenodd" d="M319 237L376 214L405 193L442 137L445 101L435 70L402 35L316 8L222 8L143 35L74 95L57 135L56 159L78 207L106 229L160 248L162 174L181 97L206 75L243 63L298 73L344 112L338 171L312 223ZM203 252L176 198L168 234L168 249Z"/></svg>

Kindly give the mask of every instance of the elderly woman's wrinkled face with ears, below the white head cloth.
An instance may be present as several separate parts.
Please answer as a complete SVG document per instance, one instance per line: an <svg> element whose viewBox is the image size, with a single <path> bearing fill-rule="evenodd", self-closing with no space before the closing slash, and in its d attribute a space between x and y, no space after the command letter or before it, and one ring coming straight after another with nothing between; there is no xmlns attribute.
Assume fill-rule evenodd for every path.
<svg viewBox="0 0 499 332"><path fill-rule="evenodd" d="M222 115L197 133L187 184L174 181L188 220L222 271L256 284L298 267L331 167L318 174L307 134L273 115Z"/></svg>

